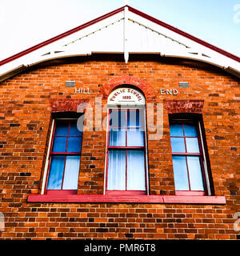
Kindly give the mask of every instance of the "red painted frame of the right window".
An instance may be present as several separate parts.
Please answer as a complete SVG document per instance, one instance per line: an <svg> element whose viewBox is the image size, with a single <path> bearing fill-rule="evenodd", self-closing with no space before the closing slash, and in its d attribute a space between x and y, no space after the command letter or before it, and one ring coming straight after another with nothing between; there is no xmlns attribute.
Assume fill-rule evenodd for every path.
<svg viewBox="0 0 240 256"><path fill-rule="evenodd" d="M207 192L207 184L206 184L206 170L205 170L205 166L203 164L203 158L204 158L204 153L203 153L203 150L202 150L202 141L201 141L201 134L200 134L200 127L198 126L198 120L194 120L194 119L184 119L184 118L175 118L175 119L172 119L170 120L170 124L173 124L173 123L182 123L182 130L183 130L183 137L182 136L170 136L170 138L184 138L184 145L185 145L185 149L186 149L186 152L173 152L172 151L172 155L185 155L186 157L187 156L191 156L191 155L198 155L199 156L199 159L200 159L200 166L201 166L201 171L202 171L202 182L203 182L203 186L204 186L204 190L191 190L190 188L190 174L189 174L189 167L188 167L188 162L187 162L187 158L186 158L186 169L187 169L187 177L188 177L188 184L189 184L189 190L175 190L175 194L176 195L198 195L198 196L206 196L208 195L208 192ZM184 130L184 124L187 124L187 123L190 123L190 124L194 124L194 126L196 127L197 129L197 133L198 133L198 136L185 136L185 130ZM186 138L198 138L198 146L199 146L199 153L190 153L190 152L187 152L187 147L186 147Z"/></svg>

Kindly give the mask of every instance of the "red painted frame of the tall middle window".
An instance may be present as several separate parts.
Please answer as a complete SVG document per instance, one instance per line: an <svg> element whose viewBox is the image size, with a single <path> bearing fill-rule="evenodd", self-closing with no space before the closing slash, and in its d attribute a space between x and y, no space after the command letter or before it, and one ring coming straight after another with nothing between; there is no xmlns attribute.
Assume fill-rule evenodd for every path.
<svg viewBox="0 0 240 256"><path fill-rule="evenodd" d="M125 130L126 136L126 145L127 145L127 113L128 111L135 111L139 110L141 113L142 110L142 128L143 128L143 141L144 146L110 146L110 111L125 111L126 112L126 127L111 127L111 128L121 128ZM139 127L130 127L131 129L138 129ZM140 129L140 128L139 128ZM126 186L127 186L127 150L142 150L144 152L144 167L145 167L145 190L107 190L107 178L108 178L108 165L109 165L109 150L126 150ZM141 107L136 108L109 108L108 110L108 124L107 124L107 146L106 146L106 184L105 184L105 191L106 195L146 195L147 194L147 176L146 176L146 130L145 130L145 112L144 109ZM125 187L126 187L125 186Z"/></svg>

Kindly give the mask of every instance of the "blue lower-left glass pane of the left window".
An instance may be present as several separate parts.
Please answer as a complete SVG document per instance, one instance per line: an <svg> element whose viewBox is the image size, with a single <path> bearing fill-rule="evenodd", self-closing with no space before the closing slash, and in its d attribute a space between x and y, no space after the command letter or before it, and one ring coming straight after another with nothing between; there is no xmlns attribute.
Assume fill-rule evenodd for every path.
<svg viewBox="0 0 240 256"><path fill-rule="evenodd" d="M52 156L47 190L61 190L65 156Z"/></svg>

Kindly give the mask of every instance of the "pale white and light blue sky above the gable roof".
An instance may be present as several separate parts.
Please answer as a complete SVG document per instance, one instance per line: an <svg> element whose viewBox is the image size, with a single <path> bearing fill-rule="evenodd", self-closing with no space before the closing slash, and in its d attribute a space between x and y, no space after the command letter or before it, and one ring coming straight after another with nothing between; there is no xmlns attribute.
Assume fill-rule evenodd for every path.
<svg viewBox="0 0 240 256"><path fill-rule="evenodd" d="M0 0L0 60L127 2L240 57L240 0Z"/></svg>

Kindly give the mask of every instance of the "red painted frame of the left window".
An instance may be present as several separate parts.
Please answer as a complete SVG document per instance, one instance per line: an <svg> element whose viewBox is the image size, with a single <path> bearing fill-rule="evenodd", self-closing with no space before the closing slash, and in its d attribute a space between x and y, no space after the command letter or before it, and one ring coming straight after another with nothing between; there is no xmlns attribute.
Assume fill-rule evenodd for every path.
<svg viewBox="0 0 240 256"><path fill-rule="evenodd" d="M53 129L53 134L51 136L51 142L50 142L50 153L49 153L49 162L48 162L48 167L47 167L47 174L46 174L46 182L45 182L45 187L44 187L44 194L49 194L49 195L68 195L68 194L77 194L78 190L47 190L47 185L48 185L48 178L49 178L49 174L50 174L50 166L51 166L51 157L53 155L78 155L79 157L81 157L81 152L82 152L82 143L81 143L81 148L79 150L79 152L53 152L53 146L54 146L54 138L56 137L67 137L66 139L66 149L68 146L68 139L69 137L81 137L81 136L69 136L69 132L70 132L70 122L74 122L77 119L75 118L71 118L71 119L54 119L54 129ZM57 126L57 122L68 122L68 132L67 132L67 136L56 136L55 135L55 130L56 130L56 126ZM63 185L63 181L64 181L64 175L65 175L65 167L66 167L66 158L65 158L65 162L64 162L64 170L63 170L63 174L62 174L62 185ZM62 187L61 185L61 187Z"/></svg>

